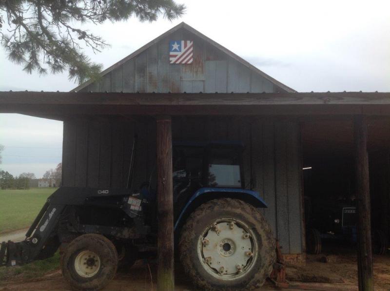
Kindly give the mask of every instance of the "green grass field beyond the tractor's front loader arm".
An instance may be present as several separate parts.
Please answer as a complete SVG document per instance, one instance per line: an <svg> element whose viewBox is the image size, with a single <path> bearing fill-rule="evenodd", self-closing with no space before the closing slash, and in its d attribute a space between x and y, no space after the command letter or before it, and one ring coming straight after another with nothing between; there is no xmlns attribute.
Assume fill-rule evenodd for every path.
<svg viewBox="0 0 390 291"><path fill-rule="evenodd" d="M0 190L0 233L29 227L57 188Z"/></svg>

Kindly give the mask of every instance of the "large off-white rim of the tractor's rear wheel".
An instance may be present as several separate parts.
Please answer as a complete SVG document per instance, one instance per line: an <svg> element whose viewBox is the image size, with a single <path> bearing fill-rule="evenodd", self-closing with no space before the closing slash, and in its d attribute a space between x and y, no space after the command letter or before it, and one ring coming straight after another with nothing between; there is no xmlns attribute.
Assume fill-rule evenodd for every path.
<svg viewBox="0 0 390 291"><path fill-rule="evenodd" d="M235 218L221 218L199 236L198 257L203 268L220 280L245 276L257 258L254 232Z"/></svg>

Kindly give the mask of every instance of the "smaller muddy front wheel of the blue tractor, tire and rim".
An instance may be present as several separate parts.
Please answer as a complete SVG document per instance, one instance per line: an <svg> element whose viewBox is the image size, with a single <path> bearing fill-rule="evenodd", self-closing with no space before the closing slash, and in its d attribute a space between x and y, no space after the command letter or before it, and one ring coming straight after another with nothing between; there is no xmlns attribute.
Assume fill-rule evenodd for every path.
<svg viewBox="0 0 390 291"><path fill-rule="evenodd" d="M63 277L76 290L103 288L114 278L117 265L114 244L105 236L94 233L80 235L71 241L60 261Z"/></svg>

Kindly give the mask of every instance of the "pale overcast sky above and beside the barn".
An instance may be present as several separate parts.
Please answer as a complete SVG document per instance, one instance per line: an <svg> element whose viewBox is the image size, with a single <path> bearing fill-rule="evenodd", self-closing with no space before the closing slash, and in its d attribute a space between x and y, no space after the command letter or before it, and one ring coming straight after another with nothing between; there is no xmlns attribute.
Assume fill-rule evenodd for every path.
<svg viewBox="0 0 390 291"><path fill-rule="evenodd" d="M390 92L390 1L187 0L179 20L88 25L111 44L91 58L104 68L181 21L299 92ZM0 91L69 91L66 74L27 75L0 48ZM13 175L61 161L62 122L0 114L0 168Z"/></svg>

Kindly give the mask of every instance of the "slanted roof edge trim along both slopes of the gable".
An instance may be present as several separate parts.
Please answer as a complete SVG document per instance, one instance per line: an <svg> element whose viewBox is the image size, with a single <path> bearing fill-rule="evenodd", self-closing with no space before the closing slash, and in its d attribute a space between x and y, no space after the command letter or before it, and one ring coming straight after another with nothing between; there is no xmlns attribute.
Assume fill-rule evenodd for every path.
<svg viewBox="0 0 390 291"><path fill-rule="evenodd" d="M197 37L205 40L206 42L210 43L211 45L213 45L215 48L217 48L218 50L222 51L223 53L225 53L226 55L228 55L229 57L235 59L236 61L240 62L241 64L243 64L244 66L248 67L249 69L251 69L252 71L254 71L255 73L257 73L258 75L260 75L261 77L269 80L270 82L272 82L274 85L280 87L281 89L285 90L286 92L297 92L295 91L294 89L286 86L285 84L279 82L278 80L272 78L271 76L267 75L266 73L262 72L261 70L259 70L258 68L256 68L254 65L250 64L248 61L246 61L245 59L237 56L236 54L234 54L232 51L228 50L227 48L225 48L224 46L220 45L219 43L215 42L213 39L210 39L208 37L206 37L204 34L200 33L199 31L197 31L196 29L194 29L193 27L191 27L190 25L188 25L187 23L185 22L181 22L179 23L178 25L176 25L175 27L171 28L170 30L168 30L167 32L163 33L162 35L160 35L159 37L157 37L156 39L153 39L152 41L148 42L147 44L145 44L144 46L142 46L141 48L139 48L137 51L135 51L134 53L130 54L129 56L127 56L126 58L122 58L121 60L119 60L117 63L113 64L112 66L108 67L107 69L105 69L104 71L102 71L99 75L102 77L104 75L106 75L107 73L113 71L114 69L116 69L117 67L119 67L120 65L122 65L123 63L125 63L126 61L128 61L129 59L131 58L134 58L136 57L137 55L139 55L140 53L142 53L143 51L147 50L149 47L151 47L152 45L154 45L155 43L157 43L158 41L166 38L167 36L169 36L170 34L174 33L175 31L179 30L179 29L186 29L187 31L193 33L194 35L196 35ZM82 83L81 85L78 85L76 88L74 88L73 90L71 91L79 91L83 88L85 88L86 86L88 86L89 84L93 83L94 80L88 80L84 83Z"/></svg>

